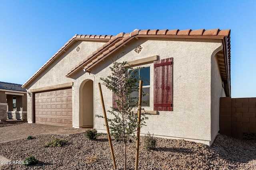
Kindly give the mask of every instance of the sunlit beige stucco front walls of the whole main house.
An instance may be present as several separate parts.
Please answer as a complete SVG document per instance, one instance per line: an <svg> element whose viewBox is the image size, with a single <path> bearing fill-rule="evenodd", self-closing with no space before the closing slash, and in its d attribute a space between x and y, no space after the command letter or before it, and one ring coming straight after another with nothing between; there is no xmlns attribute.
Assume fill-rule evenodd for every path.
<svg viewBox="0 0 256 170"><path fill-rule="evenodd" d="M109 66L112 64L111 59L116 59L119 56L118 62L122 62L143 59L154 55L158 55L160 60L173 57L173 111L159 111L158 115L150 115L146 123L147 126L142 127L141 133L145 134L149 131L157 137L186 139L210 145L210 141L213 139L212 135L218 129L216 116L211 116L211 112L216 113L217 110L213 109L211 102L216 101L219 96L211 97L215 93L215 89L212 89L212 86L215 85L211 83L213 80L215 81L212 74L215 75L217 72L215 69L217 68L216 65L211 66L214 64L212 54L215 53L216 49L221 48L222 43L220 40L134 39L125 47L113 53L108 59L92 68L90 74L83 72L81 69L72 78L66 78L65 74L72 67L102 45L102 43L89 45L90 43L81 43L79 41L73 45L63 54L63 57L60 57L60 60L56 61L52 67L46 69L46 72L38 77L34 84L32 83L28 91L30 89L73 81L72 122L73 127L82 127L81 88L87 80L93 81L94 115L102 115L98 82L102 83L100 77L106 77L111 74L109 69ZM80 51L77 53L75 49L78 45ZM141 45L143 48L139 54L134 51L137 45ZM93 47L93 49L83 48L89 46ZM153 63L142 66L150 66L151 72L150 107L144 107L144 109L153 110ZM217 82L217 84L219 83ZM105 86L102 86L102 92L106 110L109 110L112 106L112 92ZM30 120L30 123L32 123L32 100L32 97L28 96L28 121ZM109 113L107 114L110 116ZM104 119L94 117L94 128L98 132L106 132ZM211 128L214 128L214 130L211 131Z"/></svg>

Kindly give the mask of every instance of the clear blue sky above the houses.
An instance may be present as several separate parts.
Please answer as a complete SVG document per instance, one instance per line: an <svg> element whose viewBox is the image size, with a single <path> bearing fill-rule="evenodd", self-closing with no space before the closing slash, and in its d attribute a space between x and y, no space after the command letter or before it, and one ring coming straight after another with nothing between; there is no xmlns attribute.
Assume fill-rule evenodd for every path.
<svg viewBox="0 0 256 170"><path fill-rule="evenodd" d="M24 84L75 34L231 29L231 96L256 97L255 0L0 0L0 81Z"/></svg>

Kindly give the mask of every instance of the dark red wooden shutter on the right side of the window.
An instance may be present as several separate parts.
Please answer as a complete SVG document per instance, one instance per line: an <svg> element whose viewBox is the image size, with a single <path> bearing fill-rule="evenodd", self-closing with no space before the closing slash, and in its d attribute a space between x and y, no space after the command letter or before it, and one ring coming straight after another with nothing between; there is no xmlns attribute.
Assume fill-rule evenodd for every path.
<svg viewBox="0 0 256 170"><path fill-rule="evenodd" d="M173 111L173 58L154 61L154 110Z"/></svg>

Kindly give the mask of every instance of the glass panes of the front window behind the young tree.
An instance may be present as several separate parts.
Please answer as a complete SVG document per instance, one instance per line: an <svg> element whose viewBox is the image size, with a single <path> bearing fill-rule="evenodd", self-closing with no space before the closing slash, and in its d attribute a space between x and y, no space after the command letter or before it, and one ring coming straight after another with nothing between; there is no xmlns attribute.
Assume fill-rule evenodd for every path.
<svg viewBox="0 0 256 170"><path fill-rule="evenodd" d="M142 84L142 90L144 92L144 94L148 94L142 97L142 101L144 101L144 103L142 103L142 106L150 106L150 67L143 67L140 69L136 69L138 70L138 75L140 76L140 78L143 80L143 84ZM132 92L132 94L130 94L131 97L138 97L139 96L139 92Z"/></svg>

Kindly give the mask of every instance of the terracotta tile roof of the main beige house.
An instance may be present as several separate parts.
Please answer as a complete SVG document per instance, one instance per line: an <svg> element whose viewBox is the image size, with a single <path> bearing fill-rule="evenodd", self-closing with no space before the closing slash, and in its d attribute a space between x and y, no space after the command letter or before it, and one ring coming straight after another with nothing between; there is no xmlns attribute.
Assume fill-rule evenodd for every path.
<svg viewBox="0 0 256 170"><path fill-rule="evenodd" d="M222 76L222 80L224 82L224 89L227 96L231 94L231 86L230 86L230 29L220 30L220 29L185 29L185 30L168 30L168 29L135 29L130 33L119 33L116 36L102 36L102 35L75 35L70 39L49 61L46 62L22 87L26 87L29 82L31 82L44 68L54 61L54 57L58 56L64 49L69 46L74 39L99 39L102 38L107 40L107 42L96 51L94 51L91 55L86 57L83 61L81 61L78 65L72 68L67 74L67 77L71 77L77 70L84 68L86 71L90 70L90 68L94 67L96 64L100 63L106 57L114 53L116 50L120 49L126 43L130 42L132 39L140 38L140 37L148 37L148 38L181 38L181 39L221 39L223 44L223 50L221 53L218 53L218 61L223 62L219 63L220 72ZM220 60L219 60L220 59ZM223 66L224 65L224 66Z"/></svg>

